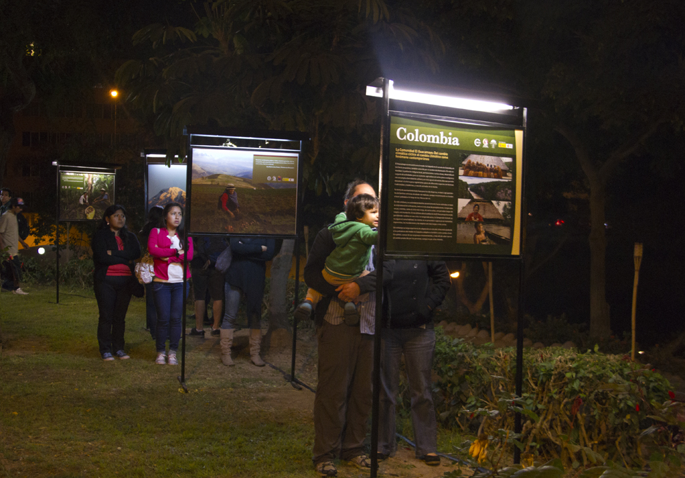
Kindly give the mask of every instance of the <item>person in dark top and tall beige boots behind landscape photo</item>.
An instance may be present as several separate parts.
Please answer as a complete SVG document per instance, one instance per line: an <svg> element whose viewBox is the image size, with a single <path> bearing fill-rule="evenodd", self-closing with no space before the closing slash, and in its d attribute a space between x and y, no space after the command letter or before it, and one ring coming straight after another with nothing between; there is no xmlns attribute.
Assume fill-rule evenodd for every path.
<svg viewBox="0 0 685 478"><path fill-rule="evenodd" d="M234 365L231 358L233 333L240 296L245 294L247 328L250 329L250 360L258 367L266 365L260 357L262 344L262 299L266 278L266 261L273 259L276 241L266 238L231 238L233 260L226 271L224 297L226 310L221 323L221 362Z"/></svg>

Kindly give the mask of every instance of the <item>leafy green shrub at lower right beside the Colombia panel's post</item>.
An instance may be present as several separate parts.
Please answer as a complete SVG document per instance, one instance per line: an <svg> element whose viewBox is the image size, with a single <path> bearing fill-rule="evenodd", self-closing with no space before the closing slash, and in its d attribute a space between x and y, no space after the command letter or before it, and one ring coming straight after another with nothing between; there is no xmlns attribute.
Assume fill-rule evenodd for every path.
<svg viewBox="0 0 685 478"><path fill-rule="evenodd" d="M640 431L669 399L669 382L630 357L560 348L524 352L523 394L516 398L515 349L475 347L440 329L437 336L434 391L445 425L513 430L512 412L521 412L524 457L587 464L588 448L639 464Z"/></svg>

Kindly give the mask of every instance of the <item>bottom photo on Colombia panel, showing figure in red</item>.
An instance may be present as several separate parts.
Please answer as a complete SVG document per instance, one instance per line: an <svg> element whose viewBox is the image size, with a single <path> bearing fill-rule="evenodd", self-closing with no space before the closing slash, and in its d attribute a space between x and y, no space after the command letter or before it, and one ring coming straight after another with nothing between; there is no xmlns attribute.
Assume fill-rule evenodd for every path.
<svg viewBox="0 0 685 478"><path fill-rule="evenodd" d="M459 199L456 238L459 244L510 244L510 201Z"/></svg>

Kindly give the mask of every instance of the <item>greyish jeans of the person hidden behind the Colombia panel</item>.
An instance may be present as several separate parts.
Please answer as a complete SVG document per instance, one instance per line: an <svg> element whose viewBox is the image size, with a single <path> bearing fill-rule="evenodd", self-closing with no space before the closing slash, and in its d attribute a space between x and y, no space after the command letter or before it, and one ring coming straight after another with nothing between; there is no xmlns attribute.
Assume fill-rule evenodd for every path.
<svg viewBox="0 0 685 478"><path fill-rule="evenodd" d="M395 406L399 390L399 364L409 379L412 428L416 457L436 453L437 425L433 406L431 369L435 352L433 329L383 329L381 332L381 390L379 401L378 451L395 455Z"/></svg>

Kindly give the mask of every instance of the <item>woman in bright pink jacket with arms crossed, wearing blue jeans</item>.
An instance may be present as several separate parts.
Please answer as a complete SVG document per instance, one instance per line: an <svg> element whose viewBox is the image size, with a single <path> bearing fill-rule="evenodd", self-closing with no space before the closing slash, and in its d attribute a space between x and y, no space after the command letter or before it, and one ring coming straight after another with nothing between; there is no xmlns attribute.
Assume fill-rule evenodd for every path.
<svg viewBox="0 0 685 478"><path fill-rule="evenodd" d="M187 238L187 250L182 238L183 208L179 203L164 206L161 227L150 231L147 250L155 262L152 294L157 310L157 364L166 363L166 338L169 336L169 365L176 365L176 351L181 338L183 294L188 288L183 282L183 261L188 254L186 279L190 279L192 239Z"/></svg>

